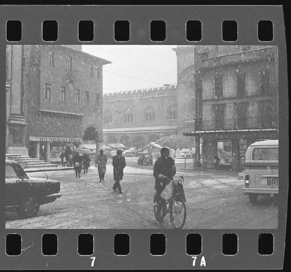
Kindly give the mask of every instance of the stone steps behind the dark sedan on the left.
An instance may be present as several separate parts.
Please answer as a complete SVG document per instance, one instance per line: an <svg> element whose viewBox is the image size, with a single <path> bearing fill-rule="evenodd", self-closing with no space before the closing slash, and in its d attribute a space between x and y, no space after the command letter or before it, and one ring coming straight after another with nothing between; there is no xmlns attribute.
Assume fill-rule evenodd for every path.
<svg viewBox="0 0 291 272"><path fill-rule="evenodd" d="M14 160L18 162L23 169L31 168L46 168L46 167L58 167L57 164L51 164L50 162L45 162L43 160L37 160L29 156L24 156L22 154L6 154L7 160Z"/></svg>

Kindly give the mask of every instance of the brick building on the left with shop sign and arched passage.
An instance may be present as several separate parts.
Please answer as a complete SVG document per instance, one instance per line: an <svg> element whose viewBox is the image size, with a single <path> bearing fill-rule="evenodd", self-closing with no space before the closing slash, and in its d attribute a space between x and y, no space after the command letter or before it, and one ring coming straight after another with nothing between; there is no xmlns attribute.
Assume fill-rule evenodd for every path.
<svg viewBox="0 0 291 272"><path fill-rule="evenodd" d="M20 72L12 77L20 82L20 95L11 101L20 103L17 114L25 119L25 129L21 142L11 139L8 146L22 145L31 157L46 161L59 157L67 145L89 141L98 146L102 67L110 62L82 52L81 46L23 45L16 52L12 67Z"/></svg>

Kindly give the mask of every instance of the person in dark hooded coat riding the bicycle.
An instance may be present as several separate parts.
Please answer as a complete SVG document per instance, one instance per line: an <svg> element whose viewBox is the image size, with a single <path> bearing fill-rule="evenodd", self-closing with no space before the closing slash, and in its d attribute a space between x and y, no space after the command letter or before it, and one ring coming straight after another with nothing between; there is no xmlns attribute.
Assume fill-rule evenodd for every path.
<svg viewBox="0 0 291 272"><path fill-rule="evenodd" d="M169 157L169 154L169 149L163 147L161 149L161 157L156 160L154 165L154 177L156 178L155 199L159 207L161 207L161 204L165 202L165 200L161 198L161 193L168 182L166 177L173 180L173 176L176 174L175 161L173 158Z"/></svg>

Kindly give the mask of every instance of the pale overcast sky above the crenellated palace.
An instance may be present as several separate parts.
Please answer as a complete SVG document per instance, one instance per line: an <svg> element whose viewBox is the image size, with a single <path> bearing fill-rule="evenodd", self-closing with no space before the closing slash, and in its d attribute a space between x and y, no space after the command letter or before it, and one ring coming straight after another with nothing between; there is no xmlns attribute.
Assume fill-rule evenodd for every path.
<svg viewBox="0 0 291 272"><path fill-rule="evenodd" d="M82 45L112 62L103 66L103 93L177 84L177 57L169 45Z"/></svg>

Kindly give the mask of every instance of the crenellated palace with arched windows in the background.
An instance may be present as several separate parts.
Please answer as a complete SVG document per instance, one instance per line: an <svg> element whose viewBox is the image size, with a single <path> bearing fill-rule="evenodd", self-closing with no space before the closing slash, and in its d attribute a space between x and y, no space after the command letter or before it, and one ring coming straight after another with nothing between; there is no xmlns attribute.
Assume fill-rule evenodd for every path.
<svg viewBox="0 0 291 272"><path fill-rule="evenodd" d="M176 85L103 95L103 142L141 148L177 135Z"/></svg>

